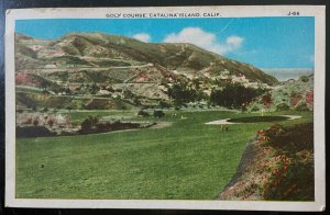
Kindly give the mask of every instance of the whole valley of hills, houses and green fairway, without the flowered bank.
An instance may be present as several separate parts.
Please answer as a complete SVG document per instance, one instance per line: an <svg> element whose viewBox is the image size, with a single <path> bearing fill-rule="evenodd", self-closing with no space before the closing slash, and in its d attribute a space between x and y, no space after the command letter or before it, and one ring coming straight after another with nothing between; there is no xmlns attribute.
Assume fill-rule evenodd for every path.
<svg viewBox="0 0 330 215"><path fill-rule="evenodd" d="M237 199L257 131L312 122L312 75L278 81L186 43L16 34L14 76L19 199Z"/></svg>

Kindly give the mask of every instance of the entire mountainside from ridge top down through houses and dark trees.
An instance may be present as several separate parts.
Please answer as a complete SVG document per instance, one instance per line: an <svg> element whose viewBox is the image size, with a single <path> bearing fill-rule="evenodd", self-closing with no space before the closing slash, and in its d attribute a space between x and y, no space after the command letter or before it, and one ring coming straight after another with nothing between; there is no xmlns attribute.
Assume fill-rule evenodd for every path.
<svg viewBox="0 0 330 215"><path fill-rule="evenodd" d="M21 93L29 88L52 97L89 94L133 105L222 99L223 89L232 84L233 93L252 89L248 99L226 103L233 108L261 93L253 89L278 82L252 65L191 44L143 43L101 33L70 33L56 41L16 34L15 79Z"/></svg>

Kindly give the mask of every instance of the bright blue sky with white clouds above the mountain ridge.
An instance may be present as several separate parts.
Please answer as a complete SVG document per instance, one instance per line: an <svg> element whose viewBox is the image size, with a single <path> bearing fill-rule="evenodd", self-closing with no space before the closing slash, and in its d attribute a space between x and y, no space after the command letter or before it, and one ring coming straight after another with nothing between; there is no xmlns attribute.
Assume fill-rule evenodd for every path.
<svg viewBox="0 0 330 215"><path fill-rule="evenodd" d="M55 39L103 32L151 43L188 42L258 68L314 68L314 18L19 20L15 31Z"/></svg>

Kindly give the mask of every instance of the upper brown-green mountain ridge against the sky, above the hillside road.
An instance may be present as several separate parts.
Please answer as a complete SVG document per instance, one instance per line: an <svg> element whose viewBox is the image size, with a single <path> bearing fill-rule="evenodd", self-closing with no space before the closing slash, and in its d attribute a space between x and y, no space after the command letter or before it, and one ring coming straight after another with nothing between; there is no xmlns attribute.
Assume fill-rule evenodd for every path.
<svg viewBox="0 0 330 215"><path fill-rule="evenodd" d="M229 70L268 84L277 80L262 70L191 44L153 44L120 35L72 33L57 41L15 36L16 69L160 65L182 73L217 76Z"/></svg>

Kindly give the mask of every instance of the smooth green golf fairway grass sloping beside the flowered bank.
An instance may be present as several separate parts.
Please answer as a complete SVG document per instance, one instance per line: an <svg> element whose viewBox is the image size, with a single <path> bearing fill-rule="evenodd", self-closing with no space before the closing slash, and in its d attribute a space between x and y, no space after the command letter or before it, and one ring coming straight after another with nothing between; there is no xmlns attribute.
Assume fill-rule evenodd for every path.
<svg viewBox="0 0 330 215"><path fill-rule="evenodd" d="M280 124L312 121L310 112L272 115L282 114L302 117ZM167 115L163 121L173 125L164 128L18 139L16 197L212 200L235 173L246 142L272 124L234 124L221 132L219 125L205 123L258 114Z"/></svg>

